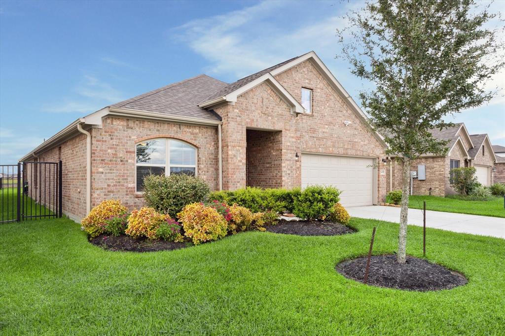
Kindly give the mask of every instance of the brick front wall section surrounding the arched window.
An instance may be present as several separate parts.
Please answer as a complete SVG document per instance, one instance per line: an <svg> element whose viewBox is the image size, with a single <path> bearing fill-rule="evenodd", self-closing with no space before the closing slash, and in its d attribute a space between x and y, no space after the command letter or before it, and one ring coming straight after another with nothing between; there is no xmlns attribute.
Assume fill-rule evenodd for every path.
<svg viewBox="0 0 505 336"><path fill-rule="evenodd" d="M93 129L92 207L106 199L120 199L129 209L143 205L135 192L135 145L146 137L171 137L197 147L197 175L218 189L217 128L109 117L102 129Z"/></svg>

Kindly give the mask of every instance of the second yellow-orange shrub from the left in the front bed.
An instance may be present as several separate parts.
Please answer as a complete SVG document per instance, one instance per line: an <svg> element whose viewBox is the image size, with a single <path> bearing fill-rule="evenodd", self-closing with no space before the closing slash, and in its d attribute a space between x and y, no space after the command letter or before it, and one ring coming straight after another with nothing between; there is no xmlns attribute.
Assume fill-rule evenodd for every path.
<svg viewBox="0 0 505 336"><path fill-rule="evenodd" d="M167 223L171 218L169 215L156 212L154 208L142 207L140 210L133 210L128 217L128 228L125 233L133 238L147 237L149 239L158 238L156 231L162 223Z"/></svg>

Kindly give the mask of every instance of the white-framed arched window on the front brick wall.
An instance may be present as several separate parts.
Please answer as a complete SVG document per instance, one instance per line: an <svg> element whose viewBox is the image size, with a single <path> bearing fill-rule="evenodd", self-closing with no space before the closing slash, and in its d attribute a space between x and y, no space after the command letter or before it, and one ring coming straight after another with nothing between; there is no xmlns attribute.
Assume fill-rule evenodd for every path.
<svg viewBox="0 0 505 336"><path fill-rule="evenodd" d="M136 185L144 189L147 175L196 175L196 148L174 139L149 139L137 144Z"/></svg>

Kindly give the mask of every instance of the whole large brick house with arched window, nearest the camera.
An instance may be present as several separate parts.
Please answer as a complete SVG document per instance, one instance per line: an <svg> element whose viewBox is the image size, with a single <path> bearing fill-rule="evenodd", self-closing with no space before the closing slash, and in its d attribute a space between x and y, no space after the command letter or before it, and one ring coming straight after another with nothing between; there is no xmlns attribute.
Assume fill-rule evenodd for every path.
<svg viewBox="0 0 505 336"><path fill-rule="evenodd" d="M140 207L148 174L213 190L334 185L346 206L377 204L385 148L311 51L232 84L200 75L107 106L21 160L63 161L63 210L79 219L104 199Z"/></svg>

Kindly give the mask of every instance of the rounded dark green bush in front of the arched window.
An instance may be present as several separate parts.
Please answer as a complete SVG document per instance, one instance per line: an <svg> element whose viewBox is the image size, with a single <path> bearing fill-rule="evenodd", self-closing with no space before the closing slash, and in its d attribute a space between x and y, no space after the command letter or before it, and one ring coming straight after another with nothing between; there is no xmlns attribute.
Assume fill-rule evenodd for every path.
<svg viewBox="0 0 505 336"><path fill-rule="evenodd" d="M209 191L207 183L194 176L149 175L144 179L145 204L158 212L169 214L172 218L175 218L186 204L203 201Z"/></svg>

